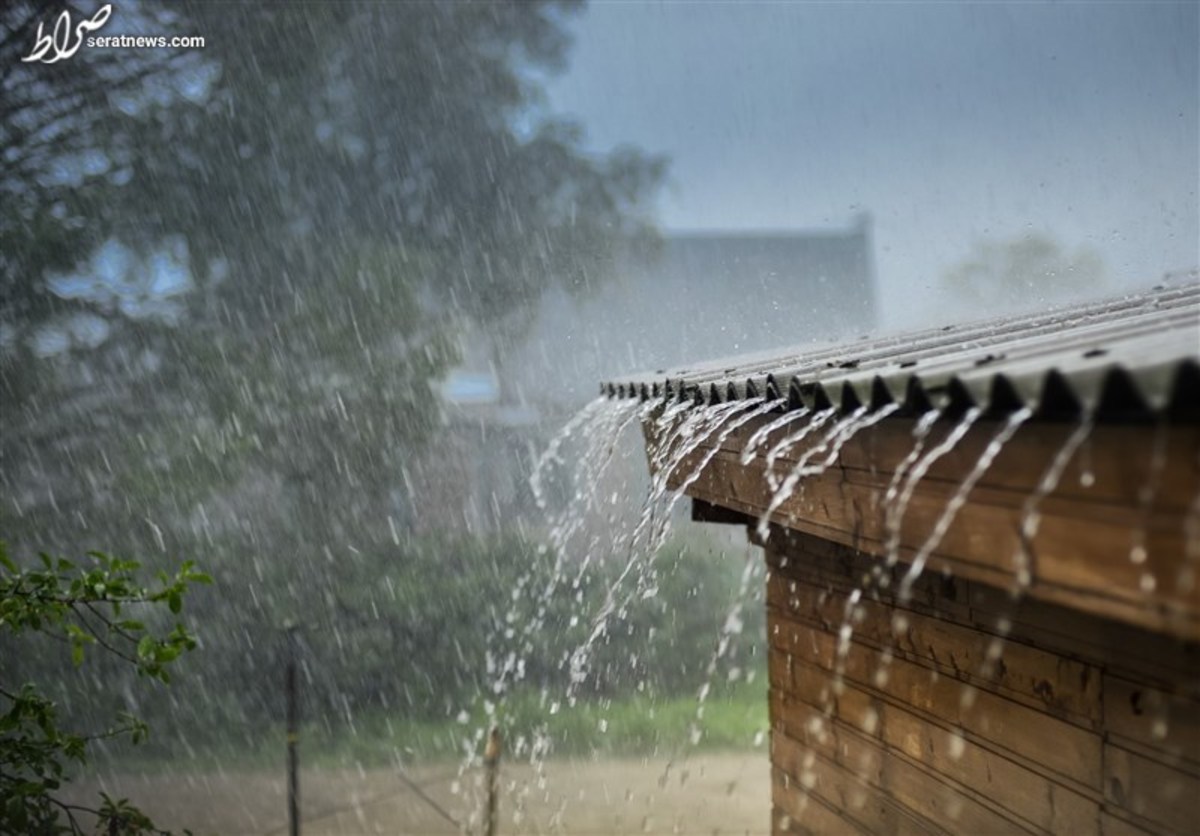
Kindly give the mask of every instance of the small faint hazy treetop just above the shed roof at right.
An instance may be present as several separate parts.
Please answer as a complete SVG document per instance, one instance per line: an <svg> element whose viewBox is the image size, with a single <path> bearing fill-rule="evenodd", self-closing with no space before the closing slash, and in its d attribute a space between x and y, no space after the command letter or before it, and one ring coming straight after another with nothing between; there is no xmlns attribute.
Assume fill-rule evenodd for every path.
<svg viewBox="0 0 1200 836"><path fill-rule="evenodd" d="M1066 301L1094 291L1108 276L1087 247L1074 252L1048 235L983 241L942 279L947 289L980 309L1019 307L1030 301Z"/></svg>

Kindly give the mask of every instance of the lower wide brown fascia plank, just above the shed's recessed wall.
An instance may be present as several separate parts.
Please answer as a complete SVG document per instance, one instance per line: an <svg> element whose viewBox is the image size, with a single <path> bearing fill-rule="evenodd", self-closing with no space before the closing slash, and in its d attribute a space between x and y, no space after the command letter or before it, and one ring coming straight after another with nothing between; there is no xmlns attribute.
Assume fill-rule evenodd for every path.
<svg viewBox="0 0 1200 836"><path fill-rule="evenodd" d="M860 485L840 470L814 477L785 501L772 519L780 525L816 534L875 554L886 553L887 533L880 500L886 481ZM724 453L709 463L690 493L706 501L758 516L770 501L762 475ZM955 575L997 587L1015 584L1014 555L1020 552L1020 503L1001 503L996 492L972 493L926 571ZM924 543L948 500L944 486L922 483L914 492L901 528L902 560ZM1022 500L1024 501L1024 500ZM1177 583L1186 569L1183 525L1175 517L1147 518L1148 558L1130 560L1129 519L1094 505L1046 500L1032 542L1032 582L1026 593L1088 612L1120 618L1156 630L1200 639L1200 584ZM1080 516L1082 515L1082 516ZM1085 524L1086 521L1086 524ZM1154 578L1144 585L1144 578Z"/></svg>

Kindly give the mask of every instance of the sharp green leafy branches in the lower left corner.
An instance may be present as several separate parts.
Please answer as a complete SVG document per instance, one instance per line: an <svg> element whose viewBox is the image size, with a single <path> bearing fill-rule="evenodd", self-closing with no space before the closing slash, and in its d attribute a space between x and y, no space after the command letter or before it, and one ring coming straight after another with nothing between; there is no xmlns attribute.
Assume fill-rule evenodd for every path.
<svg viewBox="0 0 1200 836"><path fill-rule="evenodd" d="M17 637L16 646L29 648L29 636L38 633L68 645L77 667L94 648L140 676L170 681L168 667L196 648L196 637L181 621L163 631L131 618L130 611L160 608L178 615L188 585L210 583L206 575L185 563L174 577L161 573L152 587L143 587L133 560L91 552L89 565L77 566L40 557L41 569L22 570L0 542L0 631ZM44 688L31 682L18 687L12 675L10 667L0 681L0 831L82 834L80 816L90 814L109 832L161 832L125 799L102 795L101 806L91 808L58 796L67 764L86 764L89 744L120 736L137 744L149 734L146 724L122 712L98 732L68 732Z"/></svg>

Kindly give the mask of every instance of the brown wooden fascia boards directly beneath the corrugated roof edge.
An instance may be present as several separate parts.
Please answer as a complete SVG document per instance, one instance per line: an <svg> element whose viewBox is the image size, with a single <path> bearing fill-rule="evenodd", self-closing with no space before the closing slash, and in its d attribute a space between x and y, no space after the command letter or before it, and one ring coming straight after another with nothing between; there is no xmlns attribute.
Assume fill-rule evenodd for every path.
<svg viewBox="0 0 1200 836"><path fill-rule="evenodd" d="M776 431L758 456L743 464L740 452L764 420L740 427L719 450L700 445L671 474L679 486L709 457L689 495L757 519L770 504L764 451L794 427ZM953 426L935 426L925 449ZM830 425L832 426L832 425ZM816 431L781 456L786 475L827 439ZM980 421L938 459L912 495L900 527L900 559L925 543L948 499L962 482L998 425ZM1015 557L1022 552L1026 499L1042 480L1074 427L1030 422L996 457L970 493L930 555L928 571L988 584L1015 585ZM886 553L883 495L898 464L913 447L913 422L888 419L850 439L826 473L811 476L773 515L772 522L872 554ZM653 451L656 438L647 426ZM822 451L816 458L823 458ZM653 463L653 456L652 456ZM1024 594L1154 631L1200 640L1200 561L1187 555L1187 533L1200 494L1200 427L1097 426L1074 456L1057 488L1037 507L1040 524L1028 543L1031 583ZM1189 511L1190 509L1190 511ZM1189 513L1192 521L1189 523ZM1134 559L1135 537L1145 557ZM1001 593L1003 595L1003 593Z"/></svg>

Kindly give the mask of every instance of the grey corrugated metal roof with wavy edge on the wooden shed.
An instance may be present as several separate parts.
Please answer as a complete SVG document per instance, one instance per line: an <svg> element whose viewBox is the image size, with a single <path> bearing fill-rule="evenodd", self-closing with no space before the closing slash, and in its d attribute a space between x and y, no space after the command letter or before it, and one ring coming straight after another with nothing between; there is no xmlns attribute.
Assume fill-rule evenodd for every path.
<svg viewBox="0 0 1200 836"><path fill-rule="evenodd" d="M636 374L601 392L709 403L786 396L792 408L844 411L900 403L908 414L1028 405L1042 416L1200 417L1200 283L1192 273L1046 313Z"/></svg>

